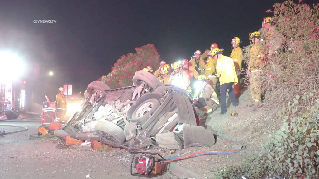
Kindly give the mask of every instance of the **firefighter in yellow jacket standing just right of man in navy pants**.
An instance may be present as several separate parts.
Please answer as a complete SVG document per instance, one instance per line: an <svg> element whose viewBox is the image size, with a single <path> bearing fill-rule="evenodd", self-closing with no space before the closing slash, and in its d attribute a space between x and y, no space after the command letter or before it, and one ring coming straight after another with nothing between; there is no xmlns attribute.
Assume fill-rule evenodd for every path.
<svg viewBox="0 0 319 179"><path fill-rule="evenodd" d="M234 86L235 90L235 94L240 91L240 81L241 81L241 57L242 57L242 49L241 47L239 47L239 45L241 44L241 40L239 37L234 37L232 39L232 53L230 54L230 58L233 59L234 61L234 66L235 66L235 71L237 74L237 78L238 78L238 84L236 84Z"/></svg>

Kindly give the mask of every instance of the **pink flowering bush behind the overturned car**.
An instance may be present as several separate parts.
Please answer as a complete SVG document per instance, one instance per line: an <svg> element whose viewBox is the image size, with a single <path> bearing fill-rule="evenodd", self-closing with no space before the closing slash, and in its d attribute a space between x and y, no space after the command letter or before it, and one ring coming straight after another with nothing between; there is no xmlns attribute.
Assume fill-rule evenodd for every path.
<svg viewBox="0 0 319 179"><path fill-rule="evenodd" d="M111 89L132 86L132 78L136 71L142 70L147 65L150 65L154 72L159 68L160 55L153 44L137 47L135 50L135 54L121 56L112 67L112 71L100 77L99 81Z"/></svg>

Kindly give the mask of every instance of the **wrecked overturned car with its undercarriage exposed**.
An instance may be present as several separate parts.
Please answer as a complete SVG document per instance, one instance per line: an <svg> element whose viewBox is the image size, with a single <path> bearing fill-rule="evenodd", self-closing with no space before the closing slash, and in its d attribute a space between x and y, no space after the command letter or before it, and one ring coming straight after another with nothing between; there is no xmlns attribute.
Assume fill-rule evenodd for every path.
<svg viewBox="0 0 319 179"><path fill-rule="evenodd" d="M113 147L179 150L212 146L212 131L198 126L189 94L138 71L135 86L110 89L98 81L85 91L85 102L61 129L70 136L98 139Z"/></svg>

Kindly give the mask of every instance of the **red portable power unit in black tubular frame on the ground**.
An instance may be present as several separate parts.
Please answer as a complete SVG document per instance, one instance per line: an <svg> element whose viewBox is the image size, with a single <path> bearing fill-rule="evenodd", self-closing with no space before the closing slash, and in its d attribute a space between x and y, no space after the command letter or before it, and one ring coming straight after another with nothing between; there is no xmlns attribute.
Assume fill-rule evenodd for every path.
<svg viewBox="0 0 319 179"><path fill-rule="evenodd" d="M135 157L136 154L141 154ZM134 163L134 166L133 166ZM165 167L164 158L157 153L151 152L135 152L131 161L131 175L152 178L162 175ZM132 168L135 168L137 173L132 173Z"/></svg>

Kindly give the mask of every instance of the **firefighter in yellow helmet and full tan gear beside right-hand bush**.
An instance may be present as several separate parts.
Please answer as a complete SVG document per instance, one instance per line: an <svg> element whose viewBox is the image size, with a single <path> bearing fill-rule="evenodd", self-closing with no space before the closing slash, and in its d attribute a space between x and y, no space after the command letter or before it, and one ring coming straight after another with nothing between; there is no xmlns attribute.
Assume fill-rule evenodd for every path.
<svg viewBox="0 0 319 179"><path fill-rule="evenodd" d="M249 34L249 40L252 41L253 46L250 49L250 58L247 68L247 74L250 75L250 92L255 105L261 103L261 65L262 65L262 52L260 44L261 34L259 32L252 32Z"/></svg>

